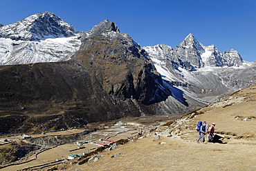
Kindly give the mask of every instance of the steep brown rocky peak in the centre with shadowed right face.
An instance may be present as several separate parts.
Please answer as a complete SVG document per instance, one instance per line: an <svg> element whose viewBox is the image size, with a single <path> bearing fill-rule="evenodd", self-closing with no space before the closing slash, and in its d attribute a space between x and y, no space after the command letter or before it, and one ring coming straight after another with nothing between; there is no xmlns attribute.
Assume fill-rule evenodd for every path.
<svg viewBox="0 0 256 171"><path fill-rule="evenodd" d="M102 21L86 32L74 56L102 83L104 91L122 100L132 97L149 105L171 95L145 51L113 22Z"/></svg>

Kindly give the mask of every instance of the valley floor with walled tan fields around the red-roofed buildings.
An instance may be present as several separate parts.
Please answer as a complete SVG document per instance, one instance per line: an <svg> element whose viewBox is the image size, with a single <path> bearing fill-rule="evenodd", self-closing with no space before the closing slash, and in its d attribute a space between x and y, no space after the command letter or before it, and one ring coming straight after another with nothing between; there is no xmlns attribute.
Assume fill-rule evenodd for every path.
<svg viewBox="0 0 256 171"><path fill-rule="evenodd" d="M102 141L99 141L99 139L104 138L109 139L110 141L129 139L129 137L135 137L138 134L138 130L151 130L152 128L156 128L159 125L163 124L163 120L172 121L176 117L177 116L161 115L153 117L134 117L122 119L121 121L117 121L116 124L112 125L111 127L107 126L105 129L97 130L95 132L84 135L84 137L80 139L80 142L84 141L86 143L82 145L77 145L77 143L75 142L66 143L63 145L45 144L46 141L48 141L48 139L50 139L51 137L63 136L63 139L67 139L68 137L65 136L80 134L85 131L80 129L65 130L59 132L45 132L44 134L29 134L30 139L24 139L20 135L11 136L8 137L8 142L0 144L0 149L11 149L12 142L23 142L26 143L26 145L44 145L42 145L41 150L37 150L37 152L32 152L31 155L28 155L28 157L24 157L24 159L21 159L20 161L9 163L8 165L3 165L0 170L28 170L32 168L32 170L44 170L44 168L51 168L53 165L58 165L63 162L68 163L68 154L86 154L98 149L100 147L98 143L103 143ZM30 140L32 140L32 142L34 143L32 143ZM3 157L3 155L4 154L0 153L0 156Z"/></svg>

